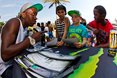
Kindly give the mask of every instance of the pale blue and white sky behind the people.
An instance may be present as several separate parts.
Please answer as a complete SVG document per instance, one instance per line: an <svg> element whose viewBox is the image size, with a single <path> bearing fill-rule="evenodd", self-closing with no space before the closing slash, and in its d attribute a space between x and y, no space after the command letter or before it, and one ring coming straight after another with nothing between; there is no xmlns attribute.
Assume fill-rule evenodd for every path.
<svg viewBox="0 0 117 78"><path fill-rule="evenodd" d="M103 5L107 10L107 16L111 22L114 23L117 18L117 0L69 0L70 3L63 3L66 6L67 11L79 10L83 18L87 22L92 21L93 8L96 5ZM20 8L25 3L41 3L44 8L37 15L37 22L47 22L56 20L55 7L48 8L51 3L44 3L43 0L0 0L0 21L7 21L10 18L17 16ZM67 15L68 16L68 15ZM69 17L69 16L68 16ZM69 17L70 18L70 17ZM70 18L71 20L71 18Z"/></svg>

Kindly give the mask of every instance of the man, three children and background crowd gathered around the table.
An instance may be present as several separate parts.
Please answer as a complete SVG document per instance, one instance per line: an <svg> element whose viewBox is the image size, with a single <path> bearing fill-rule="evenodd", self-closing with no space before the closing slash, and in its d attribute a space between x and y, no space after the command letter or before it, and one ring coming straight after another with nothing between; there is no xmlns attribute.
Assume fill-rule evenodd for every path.
<svg viewBox="0 0 117 78"><path fill-rule="evenodd" d="M0 75L2 78L12 78L12 60L15 56L22 53L30 45L35 45L39 41L51 41L53 36L53 26L51 21L37 23L37 13L43 9L41 4L24 4L18 17L10 19L1 31L0 43ZM59 5L56 7L58 19L55 20L56 46L71 46L65 39L76 39L71 47L109 47L109 33L113 29L112 24L106 19L106 9L97 5L93 9L94 20L86 23L80 11L70 10ZM66 14L72 18L72 23ZM36 27L35 32L27 34L28 27ZM30 28L29 28L30 30ZM95 40L96 39L96 40Z"/></svg>

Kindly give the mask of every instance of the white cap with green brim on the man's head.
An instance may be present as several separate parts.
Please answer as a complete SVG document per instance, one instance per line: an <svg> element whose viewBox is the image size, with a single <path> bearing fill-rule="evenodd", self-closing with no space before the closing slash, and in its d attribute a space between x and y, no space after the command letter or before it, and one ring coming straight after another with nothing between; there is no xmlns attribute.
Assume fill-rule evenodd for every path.
<svg viewBox="0 0 117 78"><path fill-rule="evenodd" d="M24 12L28 8L35 8L37 10L37 12L39 12L43 9L43 6L40 3L34 4L34 5L31 3L26 3L21 7L19 14L21 14L22 12Z"/></svg>

